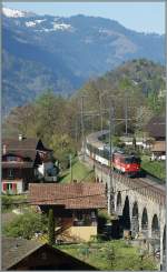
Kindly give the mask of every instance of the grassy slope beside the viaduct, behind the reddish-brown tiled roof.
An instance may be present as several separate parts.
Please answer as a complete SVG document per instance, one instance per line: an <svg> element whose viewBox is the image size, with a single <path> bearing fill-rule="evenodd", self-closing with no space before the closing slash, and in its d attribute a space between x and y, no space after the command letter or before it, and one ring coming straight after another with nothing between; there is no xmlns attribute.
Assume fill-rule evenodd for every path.
<svg viewBox="0 0 167 272"><path fill-rule="evenodd" d="M79 181L94 181L95 174L91 168L87 168L78 159L72 161L72 180ZM60 182L69 183L71 181L70 169L63 171L60 175Z"/></svg>

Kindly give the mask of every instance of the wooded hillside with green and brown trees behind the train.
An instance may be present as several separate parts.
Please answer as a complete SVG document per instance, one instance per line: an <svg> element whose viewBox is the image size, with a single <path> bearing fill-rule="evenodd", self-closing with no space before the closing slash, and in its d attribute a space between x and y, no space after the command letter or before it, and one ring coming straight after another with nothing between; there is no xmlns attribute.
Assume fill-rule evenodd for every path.
<svg viewBox="0 0 167 272"><path fill-rule="evenodd" d="M141 59L89 81L70 99L47 91L33 102L13 109L4 120L3 134L10 137L21 132L27 137L39 137L63 158L68 152L75 152L79 144L81 97L85 133L100 129L101 114L104 129L108 129L110 101L116 119L125 117L127 101L128 130L143 131L150 117L165 113L164 74L163 67ZM125 122L120 122L115 132L124 131Z"/></svg>

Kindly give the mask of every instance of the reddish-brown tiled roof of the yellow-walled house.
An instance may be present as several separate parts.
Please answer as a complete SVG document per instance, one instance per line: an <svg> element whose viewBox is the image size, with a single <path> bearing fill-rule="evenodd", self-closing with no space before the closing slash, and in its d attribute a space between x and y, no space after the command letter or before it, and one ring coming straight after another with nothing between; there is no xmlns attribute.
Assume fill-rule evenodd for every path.
<svg viewBox="0 0 167 272"><path fill-rule="evenodd" d="M30 183L29 200L37 205L65 205L65 209L106 208L106 187L101 183Z"/></svg>

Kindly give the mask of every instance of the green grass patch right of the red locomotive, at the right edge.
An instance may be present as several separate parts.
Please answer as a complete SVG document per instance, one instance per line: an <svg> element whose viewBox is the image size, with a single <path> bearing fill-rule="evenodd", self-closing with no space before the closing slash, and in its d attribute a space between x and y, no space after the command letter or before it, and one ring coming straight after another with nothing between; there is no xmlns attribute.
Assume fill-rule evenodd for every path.
<svg viewBox="0 0 167 272"><path fill-rule="evenodd" d="M166 168L165 161L150 161L148 155L141 158L141 168L149 172L150 174L157 177L165 182L166 179Z"/></svg>

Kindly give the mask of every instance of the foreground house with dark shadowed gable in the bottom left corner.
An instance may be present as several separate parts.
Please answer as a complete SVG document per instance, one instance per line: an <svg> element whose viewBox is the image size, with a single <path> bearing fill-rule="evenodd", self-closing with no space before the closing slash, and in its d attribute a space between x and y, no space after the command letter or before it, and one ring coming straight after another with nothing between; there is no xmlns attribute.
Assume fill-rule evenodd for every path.
<svg viewBox="0 0 167 272"><path fill-rule="evenodd" d="M58 249L35 240L2 238L2 271L97 270Z"/></svg>

